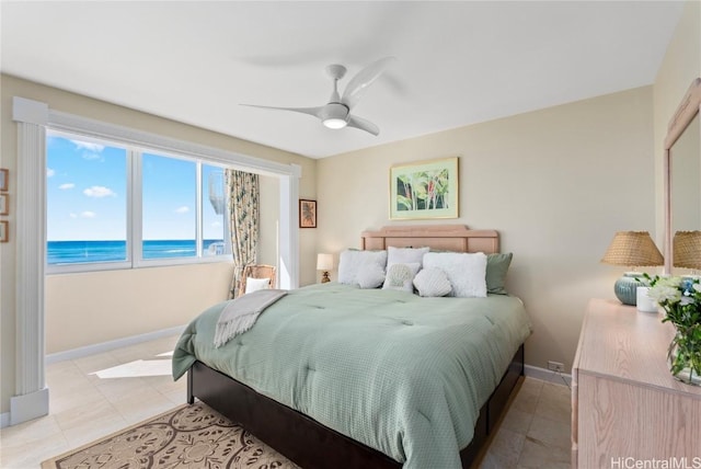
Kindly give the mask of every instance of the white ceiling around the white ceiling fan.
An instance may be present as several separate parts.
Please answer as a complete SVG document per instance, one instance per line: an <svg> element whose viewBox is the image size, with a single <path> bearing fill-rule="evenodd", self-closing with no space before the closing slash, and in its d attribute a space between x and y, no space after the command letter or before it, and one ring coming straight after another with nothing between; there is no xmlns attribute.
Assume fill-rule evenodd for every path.
<svg viewBox="0 0 701 469"><path fill-rule="evenodd" d="M1 70L323 158L651 84L683 1L5 1ZM397 61L331 130L323 69Z"/></svg>

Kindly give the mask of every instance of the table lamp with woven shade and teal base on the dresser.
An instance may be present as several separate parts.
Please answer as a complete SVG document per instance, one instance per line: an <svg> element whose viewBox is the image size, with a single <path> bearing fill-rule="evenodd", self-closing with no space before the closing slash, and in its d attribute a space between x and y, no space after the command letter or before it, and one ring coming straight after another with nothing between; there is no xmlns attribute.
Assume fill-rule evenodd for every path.
<svg viewBox="0 0 701 469"><path fill-rule="evenodd" d="M647 231L618 231L601 262L635 268L662 265L664 259ZM641 275L639 272L627 272L616 281L613 291L623 305L636 305L637 287L644 285L635 277Z"/></svg>

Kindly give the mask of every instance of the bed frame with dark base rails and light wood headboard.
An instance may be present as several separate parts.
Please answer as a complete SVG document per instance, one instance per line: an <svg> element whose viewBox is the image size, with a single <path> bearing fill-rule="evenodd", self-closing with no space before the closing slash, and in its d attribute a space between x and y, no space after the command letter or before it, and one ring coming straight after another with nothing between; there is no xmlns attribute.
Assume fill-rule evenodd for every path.
<svg viewBox="0 0 701 469"><path fill-rule="evenodd" d="M494 230L457 226L386 227L363 233L363 249L424 247L461 252L498 252ZM480 410L472 442L460 451L463 468L480 456L524 375L524 345ZM337 433L309 416L257 393L235 379L196 362L187 374L187 402L195 398L241 424L303 469L400 468L387 455Z"/></svg>

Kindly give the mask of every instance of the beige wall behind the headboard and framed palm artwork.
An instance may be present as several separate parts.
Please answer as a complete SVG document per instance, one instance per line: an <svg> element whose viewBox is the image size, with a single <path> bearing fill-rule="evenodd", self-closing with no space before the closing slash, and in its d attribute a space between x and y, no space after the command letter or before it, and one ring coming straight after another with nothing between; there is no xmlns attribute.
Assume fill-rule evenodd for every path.
<svg viewBox="0 0 701 469"><path fill-rule="evenodd" d="M388 220L391 165L458 156L460 218L448 222L499 231L502 251L514 252L508 288L533 322L527 363L545 368L552 359L570 369L587 300L613 298L623 272L599 263L614 231L655 229L652 92L320 160L319 250L337 254L358 247L364 229L399 225Z"/></svg>

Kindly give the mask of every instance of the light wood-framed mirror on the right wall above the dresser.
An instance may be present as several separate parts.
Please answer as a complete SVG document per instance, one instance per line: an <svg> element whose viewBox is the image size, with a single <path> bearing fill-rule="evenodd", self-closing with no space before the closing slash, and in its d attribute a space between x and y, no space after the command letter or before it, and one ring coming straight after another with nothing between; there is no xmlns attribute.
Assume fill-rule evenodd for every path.
<svg viewBox="0 0 701 469"><path fill-rule="evenodd" d="M674 268L674 238L701 230L701 79L677 108L665 139L665 274Z"/></svg>

